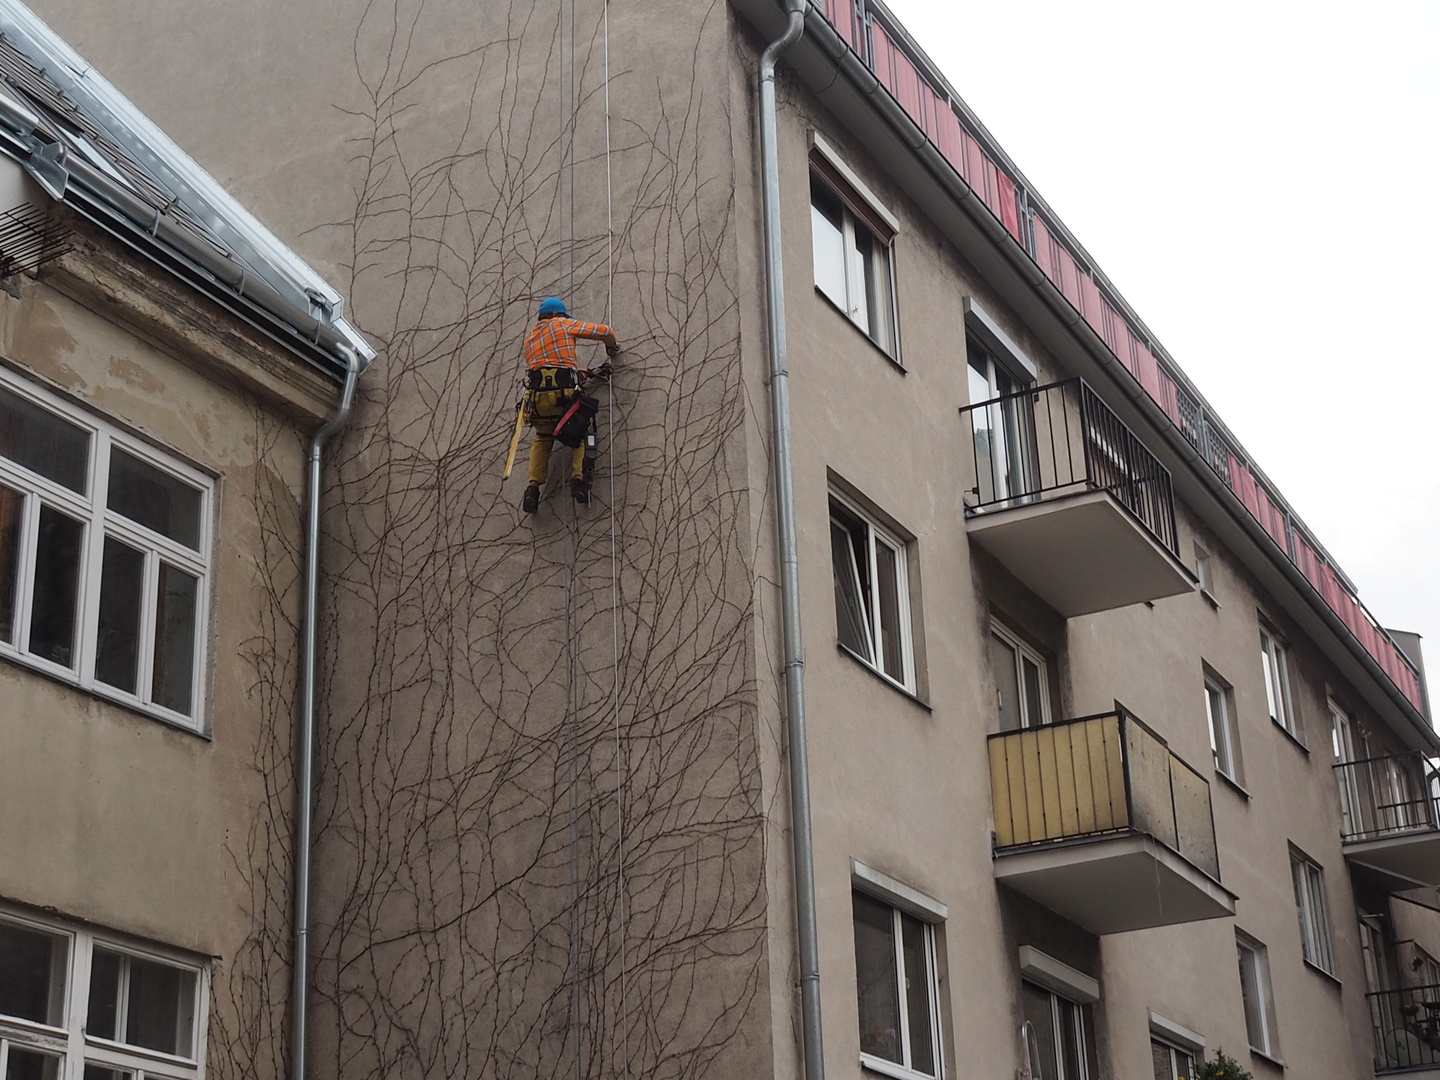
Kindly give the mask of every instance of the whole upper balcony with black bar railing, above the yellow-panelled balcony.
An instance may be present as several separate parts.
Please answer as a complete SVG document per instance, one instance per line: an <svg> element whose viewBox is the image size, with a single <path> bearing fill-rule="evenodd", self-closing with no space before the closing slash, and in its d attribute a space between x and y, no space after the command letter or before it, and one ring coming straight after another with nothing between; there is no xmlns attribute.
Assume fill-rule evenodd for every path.
<svg viewBox="0 0 1440 1080"><path fill-rule="evenodd" d="M1171 475L1081 379L960 410L971 539L1066 618L1195 588Z"/></svg>

